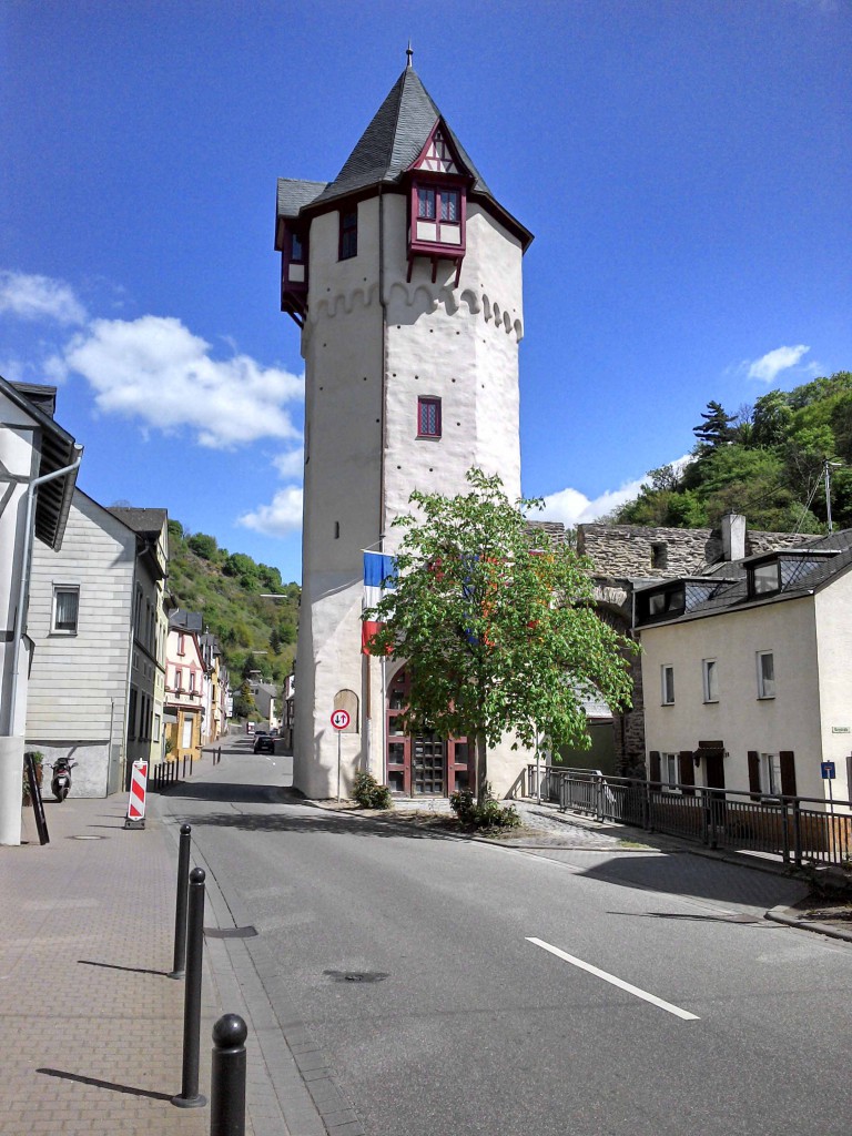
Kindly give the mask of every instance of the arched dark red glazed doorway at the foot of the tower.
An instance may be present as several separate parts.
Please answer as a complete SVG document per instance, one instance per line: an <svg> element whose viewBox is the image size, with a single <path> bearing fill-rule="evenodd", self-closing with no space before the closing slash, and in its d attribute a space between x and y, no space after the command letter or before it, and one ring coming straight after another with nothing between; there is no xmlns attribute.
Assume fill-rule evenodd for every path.
<svg viewBox="0 0 852 1136"><path fill-rule="evenodd" d="M408 705L411 679L403 666L387 686L387 787L404 796L450 796L473 784L466 738L438 737L428 730L406 734L400 721Z"/></svg>

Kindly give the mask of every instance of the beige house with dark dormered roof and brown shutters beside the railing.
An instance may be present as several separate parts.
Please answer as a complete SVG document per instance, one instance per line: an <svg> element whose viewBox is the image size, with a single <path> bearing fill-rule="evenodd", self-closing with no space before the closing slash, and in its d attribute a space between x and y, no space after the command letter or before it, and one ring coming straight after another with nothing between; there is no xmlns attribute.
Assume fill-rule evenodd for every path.
<svg viewBox="0 0 852 1136"><path fill-rule="evenodd" d="M651 780L850 799L851 569L845 531L637 587Z"/></svg>

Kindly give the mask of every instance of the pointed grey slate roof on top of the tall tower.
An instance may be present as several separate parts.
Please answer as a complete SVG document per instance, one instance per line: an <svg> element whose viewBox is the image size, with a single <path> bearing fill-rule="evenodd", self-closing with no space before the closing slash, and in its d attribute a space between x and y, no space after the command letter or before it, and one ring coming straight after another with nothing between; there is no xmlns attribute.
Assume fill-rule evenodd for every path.
<svg viewBox="0 0 852 1136"><path fill-rule="evenodd" d="M278 178L278 216L296 217L302 210L312 212L339 198L400 182L426 145L438 119L446 127L446 133L470 175L469 198L490 206L520 237L526 249L533 234L494 198L410 64L394 83L333 182Z"/></svg>

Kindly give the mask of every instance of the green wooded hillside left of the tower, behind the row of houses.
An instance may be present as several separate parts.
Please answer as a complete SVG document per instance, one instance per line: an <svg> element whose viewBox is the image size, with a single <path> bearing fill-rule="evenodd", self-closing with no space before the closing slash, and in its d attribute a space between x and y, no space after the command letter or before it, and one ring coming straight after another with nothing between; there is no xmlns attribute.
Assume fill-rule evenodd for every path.
<svg viewBox="0 0 852 1136"><path fill-rule="evenodd" d="M220 549L215 536L185 533L177 520L168 523L168 540L173 601L202 613L204 628L219 641L232 686L251 670L283 683L295 654L299 585L284 584L277 568Z"/></svg>

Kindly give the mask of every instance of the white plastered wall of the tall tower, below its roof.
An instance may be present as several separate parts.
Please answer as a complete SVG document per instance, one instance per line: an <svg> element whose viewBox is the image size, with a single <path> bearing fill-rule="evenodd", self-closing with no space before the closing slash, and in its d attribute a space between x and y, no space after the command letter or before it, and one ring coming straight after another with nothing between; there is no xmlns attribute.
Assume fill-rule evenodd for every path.
<svg viewBox="0 0 852 1136"><path fill-rule="evenodd" d="M384 536L392 552L411 491L461 492L470 466L520 492L520 243L470 206L459 285L444 261L433 284L424 258L409 283L406 226L404 197L385 194L359 203L357 257L337 260L336 211L310 232L294 770L316 797L336 793L339 741L344 794L361 763L383 776L382 667L360 653L362 550ZM417 438L418 395L442 400L440 441ZM329 718L346 687L360 692L360 715L339 740ZM524 760L508 743L490 753L495 793Z"/></svg>

